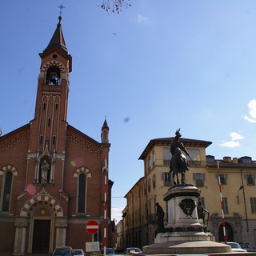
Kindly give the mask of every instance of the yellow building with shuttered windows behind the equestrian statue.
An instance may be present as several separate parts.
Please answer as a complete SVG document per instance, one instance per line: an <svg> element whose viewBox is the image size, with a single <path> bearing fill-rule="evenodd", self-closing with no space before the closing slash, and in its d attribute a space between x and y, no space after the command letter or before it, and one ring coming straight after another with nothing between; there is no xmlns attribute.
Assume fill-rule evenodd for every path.
<svg viewBox="0 0 256 256"><path fill-rule="evenodd" d="M144 161L144 176L125 196L127 205L123 220L126 247L142 247L154 243L157 227L155 203L158 202L166 213L163 198L172 186L169 166L170 142L173 140L152 139L139 157ZM224 157L217 160L214 156L206 156L206 147L211 142L186 138L180 138L180 141L190 154L190 158L187 158L190 170L186 172L186 183L194 184L201 190L198 201L209 211L205 215L208 230L214 234L217 242L221 242L224 239L224 222L228 241L255 245L256 162L250 157Z"/></svg>

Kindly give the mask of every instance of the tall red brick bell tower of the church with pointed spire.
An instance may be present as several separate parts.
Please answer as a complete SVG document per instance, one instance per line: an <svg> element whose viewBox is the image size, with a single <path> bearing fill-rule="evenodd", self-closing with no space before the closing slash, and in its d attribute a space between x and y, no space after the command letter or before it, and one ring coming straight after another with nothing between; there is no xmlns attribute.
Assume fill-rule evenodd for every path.
<svg viewBox="0 0 256 256"><path fill-rule="evenodd" d="M34 183L54 183L56 158L65 158L66 116L72 57L62 34L62 17L41 57L34 120L30 122L29 154L36 154ZM43 166L48 170L42 177Z"/></svg>

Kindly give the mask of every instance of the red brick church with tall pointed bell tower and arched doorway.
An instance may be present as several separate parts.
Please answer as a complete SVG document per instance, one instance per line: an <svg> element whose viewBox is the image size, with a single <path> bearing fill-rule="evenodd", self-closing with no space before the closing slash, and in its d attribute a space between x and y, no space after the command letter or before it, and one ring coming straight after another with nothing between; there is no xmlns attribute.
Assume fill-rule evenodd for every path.
<svg viewBox="0 0 256 256"><path fill-rule="evenodd" d="M62 17L41 66L34 119L0 135L0 252L49 254L56 246L86 250L86 242L110 245L109 126L101 142L67 122L72 56ZM86 223L98 222L89 234ZM8 230L8 233L7 233Z"/></svg>

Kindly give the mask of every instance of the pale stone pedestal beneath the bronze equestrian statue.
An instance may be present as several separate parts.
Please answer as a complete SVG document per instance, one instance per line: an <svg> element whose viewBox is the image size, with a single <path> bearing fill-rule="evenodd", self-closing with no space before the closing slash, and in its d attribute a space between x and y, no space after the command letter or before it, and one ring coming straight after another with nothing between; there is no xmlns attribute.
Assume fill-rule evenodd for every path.
<svg viewBox="0 0 256 256"><path fill-rule="evenodd" d="M155 243L143 247L146 254L208 254L230 252L230 246L214 242L214 236L199 222L197 198L200 190L194 185L172 186L164 195L168 205L166 233Z"/></svg>

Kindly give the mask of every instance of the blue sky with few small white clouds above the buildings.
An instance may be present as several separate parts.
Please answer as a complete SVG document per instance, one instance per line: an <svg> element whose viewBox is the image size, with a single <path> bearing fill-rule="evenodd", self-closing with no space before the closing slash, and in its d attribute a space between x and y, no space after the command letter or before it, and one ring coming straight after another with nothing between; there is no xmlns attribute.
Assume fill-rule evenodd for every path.
<svg viewBox="0 0 256 256"><path fill-rule="evenodd" d="M58 23L73 56L68 122L100 141L110 126L112 207L143 175L150 139L213 142L215 158L255 159L256 2L131 0L121 14L100 0L0 1L0 127L34 118L40 58Z"/></svg>

